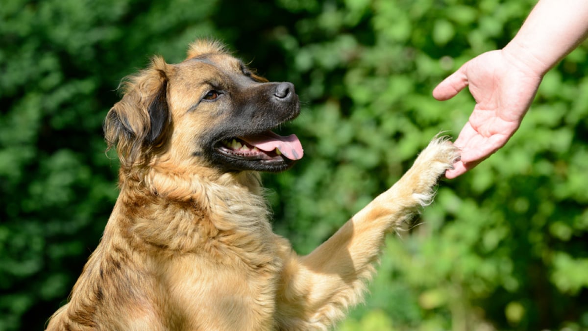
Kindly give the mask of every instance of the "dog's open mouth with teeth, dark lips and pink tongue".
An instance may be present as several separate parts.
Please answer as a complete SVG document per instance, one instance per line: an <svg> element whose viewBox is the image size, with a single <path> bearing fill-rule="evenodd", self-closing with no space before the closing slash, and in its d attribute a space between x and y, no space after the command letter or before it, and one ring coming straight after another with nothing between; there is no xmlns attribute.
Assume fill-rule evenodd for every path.
<svg viewBox="0 0 588 331"><path fill-rule="evenodd" d="M233 160L235 166L256 163L259 167L247 167L262 171L281 171L289 168L304 154L302 144L295 134L282 136L272 131L226 138L215 144L217 153ZM239 167L240 168L240 167Z"/></svg>

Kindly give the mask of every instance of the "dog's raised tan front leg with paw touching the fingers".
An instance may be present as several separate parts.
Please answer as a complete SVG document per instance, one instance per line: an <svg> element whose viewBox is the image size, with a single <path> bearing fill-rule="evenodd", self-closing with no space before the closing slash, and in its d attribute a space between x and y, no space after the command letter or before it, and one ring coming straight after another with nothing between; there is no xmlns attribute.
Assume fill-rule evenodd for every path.
<svg viewBox="0 0 588 331"><path fill-rule="evenodd" d="M308 256L286 258L278 293L278 324L284 330L328 329L363 299L386 233L430 203L437 179L458 157L436 138L389 190L352 217Z"/></svg>

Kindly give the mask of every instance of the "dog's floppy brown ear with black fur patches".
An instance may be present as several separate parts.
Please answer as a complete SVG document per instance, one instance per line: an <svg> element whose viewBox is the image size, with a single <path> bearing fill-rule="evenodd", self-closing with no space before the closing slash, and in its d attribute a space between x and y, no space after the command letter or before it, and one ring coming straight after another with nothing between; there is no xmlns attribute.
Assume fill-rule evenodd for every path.
<svg viewBox="0 0 588 331"><path fill-rule="evenodd" d="M106 115L106 142L108 148L116 147L122 166L147 161L149 153L163 144L171 122L167 101L170 70L163 58L153 58L151 67L122 83L125 94Z"/></svg>

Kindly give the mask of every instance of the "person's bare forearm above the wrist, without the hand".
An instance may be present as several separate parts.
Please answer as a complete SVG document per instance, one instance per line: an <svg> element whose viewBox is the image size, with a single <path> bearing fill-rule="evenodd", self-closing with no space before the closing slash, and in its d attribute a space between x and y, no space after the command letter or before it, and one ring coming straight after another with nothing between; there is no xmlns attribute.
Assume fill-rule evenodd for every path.
<svg viewBox="0 0 588 331"><path fill-rule="evenodd" d="M503 49L543 76L588 34L588 1L540 0Z"/></svg>

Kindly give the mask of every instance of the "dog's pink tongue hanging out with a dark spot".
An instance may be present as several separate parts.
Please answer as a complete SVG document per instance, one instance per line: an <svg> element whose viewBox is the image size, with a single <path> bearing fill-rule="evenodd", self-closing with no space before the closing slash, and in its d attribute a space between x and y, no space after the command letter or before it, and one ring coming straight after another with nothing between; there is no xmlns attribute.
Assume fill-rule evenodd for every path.
<svg viewBox="0 0 588 331"><path fill-rule="evenodd" d="M248 135L247 137L239 138L262 151L269 152L278 148L278 150L290 160L300 160L304 154L302 144L300 144L300 140L298 140L298 137L296 137L295 134L290 134L288 137L282 137L272 131L266 131L262 134Z"/></svg>

